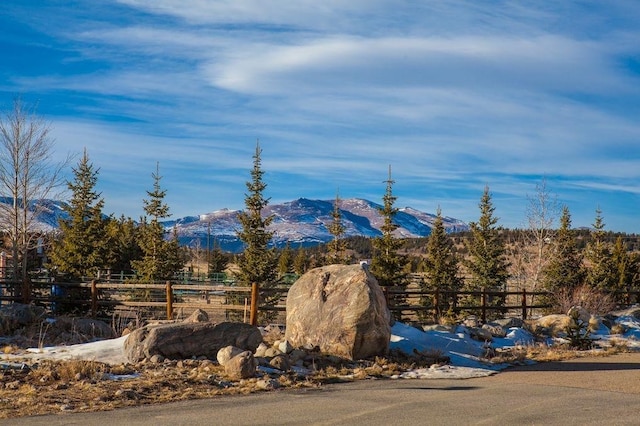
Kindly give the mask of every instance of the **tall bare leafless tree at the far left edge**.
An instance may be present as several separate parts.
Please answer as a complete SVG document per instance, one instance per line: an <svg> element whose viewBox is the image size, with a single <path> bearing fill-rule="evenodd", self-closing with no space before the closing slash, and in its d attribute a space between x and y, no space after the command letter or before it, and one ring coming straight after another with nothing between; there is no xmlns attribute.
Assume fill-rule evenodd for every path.
<svg viewBox="0 0 640 426"><path fill-rule="evenodd" d="M24 286L29 250L38 236L35 224L48 208L43 201L64 184L62 170L70 161L53 161L50 126L34 110L16 98L13 109L0 117L0 195L7 197L0 203L1 229L11 244L15 279ZM29 292L23 287L25 300Z"/></svg>

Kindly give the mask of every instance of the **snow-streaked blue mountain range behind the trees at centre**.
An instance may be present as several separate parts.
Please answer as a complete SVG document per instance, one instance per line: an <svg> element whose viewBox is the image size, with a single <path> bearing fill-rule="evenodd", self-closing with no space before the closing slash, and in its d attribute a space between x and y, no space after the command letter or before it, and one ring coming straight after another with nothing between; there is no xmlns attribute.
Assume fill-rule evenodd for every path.
<svg viewBox="0 0 640 426"><path fill-rule="evenodd" d="M377 237L381 235L380 226L383 217L379 204L371 201L350 198L340 201L340 215L345 227L345 236ZM292 247L312 246L331 241L333 236L329 226L333 222L331 213L333 200L309 200L299 198L283 204L267 206L263 214L273 215L269 230L274 233L273 244L283 247L288 242ZM175 229L180 242L184 245L206 248L214 242L222 250L238 252L242 243L236 232L241 229L238 210L218 210L199 217L189 216L175 221L164 222L168 229ZM436 216L410 207L399 209L394 222L398 225L395 234L401 238L425 237L431 233ZM444 226L448 232L465 231L464 222L445 217Z"/></svg>

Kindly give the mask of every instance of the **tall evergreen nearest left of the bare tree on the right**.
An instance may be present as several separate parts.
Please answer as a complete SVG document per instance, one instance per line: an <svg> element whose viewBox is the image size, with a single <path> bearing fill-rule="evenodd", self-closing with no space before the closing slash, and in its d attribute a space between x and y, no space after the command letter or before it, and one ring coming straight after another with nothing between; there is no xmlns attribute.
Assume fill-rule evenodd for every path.
<svg viewBox="0 0 640 426"><path fill-rule="evenodd" d="M500 235L501 228L497 226L498 218L493 215L495 207L488 186L484 188L479 207L480 219L469 224L471 234L466 241L469 258L465 263L470 274L467 288L502 291L506 288L509 278L509 262L506 258L505 243ZM471 300L473 303L479 302L478 297ZM503 306L504 298L493 298L490 304Z"/></svg>

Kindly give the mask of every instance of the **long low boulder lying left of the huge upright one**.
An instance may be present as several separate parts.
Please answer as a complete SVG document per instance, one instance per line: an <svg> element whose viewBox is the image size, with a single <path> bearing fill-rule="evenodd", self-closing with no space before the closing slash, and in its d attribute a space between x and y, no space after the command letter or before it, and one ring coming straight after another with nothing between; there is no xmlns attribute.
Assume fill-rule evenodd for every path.
<svg viewBox="0 0 640 426"><path fill-rule="evenodd" d="M161 355L168 359L205 357L216 359L225 346L255 351L262 342L257 327L244 323L172 323L148 325L132 331L124 343L131 362Z"/></svg>

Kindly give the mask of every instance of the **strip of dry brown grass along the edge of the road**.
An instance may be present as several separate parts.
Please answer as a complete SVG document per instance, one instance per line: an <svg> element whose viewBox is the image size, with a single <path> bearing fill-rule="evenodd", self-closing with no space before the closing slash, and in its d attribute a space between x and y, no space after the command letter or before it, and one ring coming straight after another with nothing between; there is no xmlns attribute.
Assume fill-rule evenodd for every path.
<svg viewBox="0 0 640 426"><path fill-rule="evenodd" d="M613 344L611 348L600 351L532 345L500 351L491 358L491 362L550 362L580 356L607 356L627 350L624 344ZM360 362L319 357L318 368L309 377L287 373L232 381L225 375L223 367L209 360L141 363L135 366L111 366L80 360L46 361L30 369L0 370L0 418L61 411L105 411L187 399L244 395L274 388L317 387L325 383L384 379L443 362L445 359L438 351L414 357L392 353L389 358L376 357Z"/></svg>

